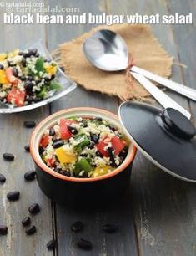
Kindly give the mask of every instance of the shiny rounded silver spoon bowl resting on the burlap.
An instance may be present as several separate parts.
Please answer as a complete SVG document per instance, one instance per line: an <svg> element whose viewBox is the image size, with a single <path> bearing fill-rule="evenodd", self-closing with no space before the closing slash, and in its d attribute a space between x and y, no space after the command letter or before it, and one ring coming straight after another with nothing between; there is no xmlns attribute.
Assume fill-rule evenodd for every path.
<svg viewBox="0 0 196 256"><path fill-rule="evenodd" d="M128 48L123 38L111 30L102 29L87 38L83 52L98 69L120 71L128 66Z"/></svg>

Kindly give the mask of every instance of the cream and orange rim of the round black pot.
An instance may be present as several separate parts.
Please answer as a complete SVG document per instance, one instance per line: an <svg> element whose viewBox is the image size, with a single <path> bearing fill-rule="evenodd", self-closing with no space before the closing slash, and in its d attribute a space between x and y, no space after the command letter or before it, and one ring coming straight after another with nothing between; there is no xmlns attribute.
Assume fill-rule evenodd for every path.
<svg viewBox="0 0 196 256"><path fill-rule="evenodd" d="M134 145L133 145L133 150L132 150L130 156L125 161L123 161L123 163L118 168L113 170L113 172L109 172L108 174L105 174L103 176L98 176L98 177L86 177L86 178L67 177L67 176L64 176L63 174L53 171L51 168L49 168L47 165L45 165L44 162L40 158L38 158L37 153L35 151L34 141L35 141L35 137L37 136L40 128L43 127L43 125L45 123L47 123L48 120L53 119L53 117L55 117L55 116L58 116L61 114L68 114L69 112L81 111L81 110L89 111L89 112L94 111L94 112L97 112L100 114L110 115L113 117L113 119L118 120L118 115L115 115L108 110L103 110L103 109L99 109L99 108L78 107L78 108L70 108L70 109L60 110L58 112L55 112L54 114L49 115L47 118L42 120L36 126L35 130L33 131L33 134L30 139L30 152L33 157L33 161L35 161L35 163L39 166L39 168L41 168L44 172L47 172L48 174L52 175L53 177L57 177L61 180L68 181L68 182L97 182L97 181L108 179L109 177L113 177L113 176L117 175L119 172L123 172L123 170L126 169L134 160L134 157L137 152L137 148Z"/></svg>

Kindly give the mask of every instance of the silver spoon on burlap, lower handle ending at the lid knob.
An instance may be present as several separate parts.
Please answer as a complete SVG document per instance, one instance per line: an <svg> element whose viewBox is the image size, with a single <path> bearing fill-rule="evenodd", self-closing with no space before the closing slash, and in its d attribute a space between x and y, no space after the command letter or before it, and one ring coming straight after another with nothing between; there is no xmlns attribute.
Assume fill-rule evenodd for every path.
<svg viewBox="0 0 196 256"><path fill-rule="evenodd" d="M119 71L127 69L127 45L123 41L123 38L110 30L99 30L97 33L94 33L92 37L87 38L83 42L83 52L88 61L99 69L106 71ZM134 66L133 68L138 69ZM133 75L133 77L137 79L138 82L142 84L143 87L148 90L148 92L153 95L153 97L158 100L158 102L163 105L164 108L171 107L180 111L183 113L183 115L186 115L188 119L190 119L191 114L187 110L185 110L181 105L178 105L178 103L173 99L169 98L168 95L164 94L162 90L159 90L156 86L154 86L143 76L143 74L134 72L133 68L130 69L130 73Z"/></svg>

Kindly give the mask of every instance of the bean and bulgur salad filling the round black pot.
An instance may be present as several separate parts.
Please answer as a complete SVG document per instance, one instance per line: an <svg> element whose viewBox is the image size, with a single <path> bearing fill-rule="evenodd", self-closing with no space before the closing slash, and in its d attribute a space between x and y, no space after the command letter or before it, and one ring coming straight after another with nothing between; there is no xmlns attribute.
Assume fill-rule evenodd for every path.
<svg viewBox="0 0 196 256"><path fill-rule="evenodd" d="M98 177L120 166L128 141L99 117L61 118L44 131L39 144L44 163L68 177Z"/></svg>

